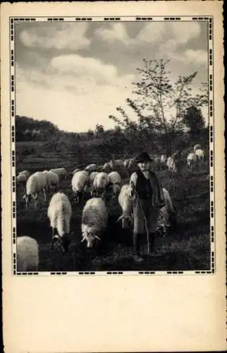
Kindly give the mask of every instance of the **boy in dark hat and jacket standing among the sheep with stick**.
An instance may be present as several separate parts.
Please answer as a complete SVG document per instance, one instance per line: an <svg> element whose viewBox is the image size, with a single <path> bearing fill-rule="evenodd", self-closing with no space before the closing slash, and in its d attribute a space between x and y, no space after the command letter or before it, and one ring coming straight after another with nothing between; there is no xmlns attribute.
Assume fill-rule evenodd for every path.
<svg viewBox="0 0 227 353"><path fill-rule="evenodd" d="M152 159L147 152L140 153L136 157L135 162L138 165L138 169L130 177L131 196L134 198L133 258L136 262L142 262L140 244L141 238L146 234L145 217L153 250L159 208L163 207L165 203L164 194L157 176L151 171Z"/></svg>

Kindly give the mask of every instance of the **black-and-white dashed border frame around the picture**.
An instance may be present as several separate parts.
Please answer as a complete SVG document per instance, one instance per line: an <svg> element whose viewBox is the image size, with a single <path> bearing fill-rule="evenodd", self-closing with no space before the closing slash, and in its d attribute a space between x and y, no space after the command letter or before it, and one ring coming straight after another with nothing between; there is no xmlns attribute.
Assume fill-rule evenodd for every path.
<svg viewBox="0 0 227 353"><path fill-rule="evenodd" d="M70 272L17 272L16 268L16 141L15 141L15 115L16 115L16 94L15 94L15 23L18 22L172 22L172 21L206 21L208 23L208 86L209 86L209 185L210 185L210 240L211 240L211 253L210 253L210 269L209 270L179 270L179 271L70 271ZM178 17L165 17L165 16L154 16L154 17L144 17L144 16L123 16L123 17L104 17L104 16L92 16L92 17L74 17L74 16L64 16L64 17L10 17L9 18L9 28L10 28L10 38L9 38L9 50L10 50L10 87L11 87L11 97L10 97L10 119L11 119L11 207L12 207L12 217L11 217L11 249L12 249L12 275L14 276L48 276L48 275L212 275L215 273L215 204L214 204L214 18L213 16L178 16Z"/></svg>

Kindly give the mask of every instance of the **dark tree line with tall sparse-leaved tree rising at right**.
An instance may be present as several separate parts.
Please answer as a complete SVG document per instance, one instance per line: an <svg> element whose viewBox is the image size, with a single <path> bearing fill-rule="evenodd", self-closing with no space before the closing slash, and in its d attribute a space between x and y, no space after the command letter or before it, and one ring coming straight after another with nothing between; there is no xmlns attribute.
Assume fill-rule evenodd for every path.
<svg viewBox="0 0 227 353"><path fill-rule="evenodd" d="M122 107L117 107L120 118L109 115L116 124L114 129L105 130L97 124L94 131L69 133L47 120L16 116L16 142L42 141L44 152L77 155L81 162L90 150L109 159L113 155L127 156L144 149L154 154L171 155L176 149L187 148L190 141L199 143L200 139L208 138L200 109L208 104L207 85L203 83L200 93L192 94L190 85L197 72L178 76L172 83L168 62L144 59L143 67L137 68L140 80L133 83L137 98L126 100L137 115L137 121L133 121Z"/></svg>

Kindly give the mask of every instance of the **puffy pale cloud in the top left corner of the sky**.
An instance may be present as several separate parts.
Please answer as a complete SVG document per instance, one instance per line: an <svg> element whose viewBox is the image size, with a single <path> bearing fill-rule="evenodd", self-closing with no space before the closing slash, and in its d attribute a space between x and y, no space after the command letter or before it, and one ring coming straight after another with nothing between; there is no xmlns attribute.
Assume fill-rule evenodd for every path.
<svg viewBox="0 0 227 353"><path fill-rule="evenodd" d="M20 32L20 41L26 47L41 49L83 49L90 45L85 37L87 23L48 23Z"/></svg>

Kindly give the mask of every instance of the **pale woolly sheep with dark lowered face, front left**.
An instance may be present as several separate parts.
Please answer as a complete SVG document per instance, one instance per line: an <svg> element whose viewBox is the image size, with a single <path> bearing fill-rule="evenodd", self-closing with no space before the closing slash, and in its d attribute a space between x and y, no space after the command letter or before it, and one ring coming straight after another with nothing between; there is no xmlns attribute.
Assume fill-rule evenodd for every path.
<svg viewBox="0 0 227 353"><path fill-rule="evenodd" d="M54 193L49 203L47 216L52 228L51 249L54 242L59 240L63 250L68 251L72 208L65 193Z"/></svg>

